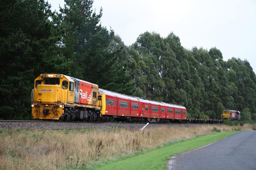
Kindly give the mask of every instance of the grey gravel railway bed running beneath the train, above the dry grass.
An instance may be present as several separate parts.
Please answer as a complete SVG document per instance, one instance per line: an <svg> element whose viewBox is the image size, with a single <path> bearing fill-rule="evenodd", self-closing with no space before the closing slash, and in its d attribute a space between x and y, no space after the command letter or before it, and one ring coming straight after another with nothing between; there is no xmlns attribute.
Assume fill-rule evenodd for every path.
<svg viewBox="0 0 256 170"><path fill-rule="evenodd" d="M126 123L126 122L59 122L59 121L15 121L1 120L0 129L25 129L25 130L60 130L60 129L95 129L108 130L111 128L127 128L130 130L139 130L146 122L143 123ZM178 124L178 123L150 123L147 128L151 127L174 127L174 126L199 126L199 125L220 125L220 124Z"/></svg>

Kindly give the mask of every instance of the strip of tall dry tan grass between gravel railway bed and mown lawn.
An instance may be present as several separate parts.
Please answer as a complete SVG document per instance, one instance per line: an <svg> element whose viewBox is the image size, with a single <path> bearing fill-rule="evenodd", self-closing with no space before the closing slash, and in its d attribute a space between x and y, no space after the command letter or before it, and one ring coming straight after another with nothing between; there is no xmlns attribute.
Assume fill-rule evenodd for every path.
<svg viewBox="0 0 256 170"><path fill-rule="evenodd" d="M0 169L88 168L104 161L145 151L163 144L212 132L251 130L244 126L158 127L143 131L113 128L108 131L2 130L0 131Z"/></svg>

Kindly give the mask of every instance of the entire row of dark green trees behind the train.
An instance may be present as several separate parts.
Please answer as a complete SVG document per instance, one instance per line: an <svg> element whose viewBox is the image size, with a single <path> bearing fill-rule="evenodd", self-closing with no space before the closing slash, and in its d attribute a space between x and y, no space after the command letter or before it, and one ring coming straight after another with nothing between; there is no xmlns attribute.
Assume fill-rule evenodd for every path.
<svg viewBox="0 0 256 170"><path fill-rule="evenodd" d="M188 117L220 118L223 109L255 119L256 76L247 60L224 61L216 47L184 49L178 36L141 34L127 47L101 26L92 0L0 2L0 119L31 119L40 73L62 73L111 91L184 105Z"/></svg>

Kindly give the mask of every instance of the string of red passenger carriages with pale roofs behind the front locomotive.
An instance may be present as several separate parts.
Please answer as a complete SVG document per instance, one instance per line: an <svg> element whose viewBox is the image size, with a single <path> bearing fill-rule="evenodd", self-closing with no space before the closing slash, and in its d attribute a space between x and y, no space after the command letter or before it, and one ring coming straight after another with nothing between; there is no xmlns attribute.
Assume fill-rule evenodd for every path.
<svg viewBox="0 0 256 170"><path fill-rule="evenodd" d="M186 108L163 102L119 94L99 89L103 117L120 121L181 122L187 118ZM108 118L107 118L108 119Z"/></svg>

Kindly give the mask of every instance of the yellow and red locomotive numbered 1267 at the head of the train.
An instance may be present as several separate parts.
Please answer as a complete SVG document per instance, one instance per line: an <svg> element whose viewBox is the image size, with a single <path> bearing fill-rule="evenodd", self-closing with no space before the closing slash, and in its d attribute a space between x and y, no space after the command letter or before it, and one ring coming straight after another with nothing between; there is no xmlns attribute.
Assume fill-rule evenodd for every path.
<svg viewBox="0 0 256 170"><path fill-rule="evenodd" d="M98 85L63 74L40 74L31 92L33 119L97 120L100 104Z"/></svg>

